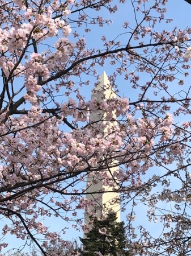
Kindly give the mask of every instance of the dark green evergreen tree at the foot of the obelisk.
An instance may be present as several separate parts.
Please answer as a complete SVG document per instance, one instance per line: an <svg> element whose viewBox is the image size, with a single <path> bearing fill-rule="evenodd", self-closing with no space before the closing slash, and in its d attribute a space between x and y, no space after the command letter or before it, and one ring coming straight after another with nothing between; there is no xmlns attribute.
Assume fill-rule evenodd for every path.
<svg viewBox="0 0 191 256"><path fill-rule="evenodd" d="M91 217L90 217L91 218ZM110 212L105 220L94 218L93 227L86 234L86 238L80 238L83 251L82 256L102 255L125 256L129 255L125 250L125 228L124 221L117 222L116 213Z"/></svg>

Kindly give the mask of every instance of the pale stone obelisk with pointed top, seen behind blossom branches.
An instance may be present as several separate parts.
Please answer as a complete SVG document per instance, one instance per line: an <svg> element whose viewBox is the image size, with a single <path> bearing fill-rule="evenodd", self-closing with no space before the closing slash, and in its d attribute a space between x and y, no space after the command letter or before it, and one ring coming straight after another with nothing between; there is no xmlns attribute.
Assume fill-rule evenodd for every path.
<svg viewBox="0 0 191 256"><path fill-rule="evenodd" d="M113 92L113 89L110 86L108 77L105 72L103 73L103 75L101 75L99 84L96 86L94 92L92 93L92 98L96 98L98 102L100 102L103 98L107 100L109 98L116 98L116 93ZM100 123L105 122L105 116L101 110L97 110L97 113L92 113L90 119L91 122L97 122L97 127L99 127L99 121ZM112 119L116 119L116 115L114 113ZM109 122L109 126L114 125L117 125L117 122ZM117 170L117 167L109 168L108 176L112 178L111 174L115 170ZM96 181L96 184L94 184L93 181ZM101 189L103 188L105 190L104 193L95 193L101 191ZM106 214L110 209L114 210L114 212L117 213L117 221L120 222L120 193L113 192L113 189L109 186L104 186L103 179L99 176L99 172L97 172L94 176L89 175L87 177L86 192L86 199L94 203L94 206L90 207L90 211L85 213L85 224L87 226L89 225L88 223L90 221L88 216L95 213L95 216L100 217L101 214Z"/></svg>

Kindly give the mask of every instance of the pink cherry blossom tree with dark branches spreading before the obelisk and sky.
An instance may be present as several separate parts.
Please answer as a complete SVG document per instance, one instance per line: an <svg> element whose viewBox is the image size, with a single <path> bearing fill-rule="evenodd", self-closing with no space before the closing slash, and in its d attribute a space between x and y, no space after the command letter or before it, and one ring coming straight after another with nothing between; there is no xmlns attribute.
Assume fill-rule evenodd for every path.
<svg viewBox="0 0 191 256"><path fill-rule="evenodd" d="M122 22L114 39L97 36L94 48L86 42L99 27L107 26L106 34L111 20L104 17L115 15L117 1L0 0L3 236L48 255L49 244L67 240L67 222L87 229L86 177L96 183L99 174L120 192L132 255L190 255L191 28L165 30L172 22L167 2L120 0L133 20ZM104 65L117 97L84 97ZM106 122L102 114L90 120L97 112ZM108 176L112 167L118 170ZM148 221L160 222L159 236L143 224L135 228L137 205L147 207ZM53 218L61 233L45 224Z"/></svg>

